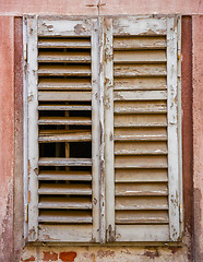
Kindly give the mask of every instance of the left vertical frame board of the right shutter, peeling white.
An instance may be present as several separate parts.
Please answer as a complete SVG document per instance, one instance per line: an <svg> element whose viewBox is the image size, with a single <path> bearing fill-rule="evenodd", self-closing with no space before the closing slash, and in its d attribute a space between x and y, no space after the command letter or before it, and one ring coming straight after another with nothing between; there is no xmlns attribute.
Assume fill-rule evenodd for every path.
<svg viewBox="0 0 203 262"><path fill-rule="evenodd" d="M115 241L114 58L112 19L105 19L105 176L107 242Z"/></svg>

